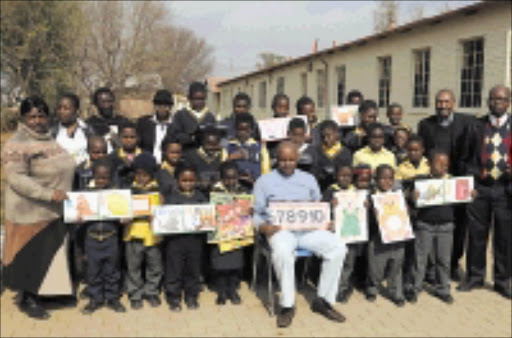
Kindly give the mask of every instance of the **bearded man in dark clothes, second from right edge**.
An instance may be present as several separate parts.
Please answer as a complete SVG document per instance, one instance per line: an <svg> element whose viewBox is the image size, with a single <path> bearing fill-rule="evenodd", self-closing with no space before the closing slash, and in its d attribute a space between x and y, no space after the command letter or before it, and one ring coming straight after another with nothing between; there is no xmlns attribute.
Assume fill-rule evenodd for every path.
<svg viewBox="0 0 512 338"><path fill-rule="evenodd" d="M452 176L464 175L465 163L461 156L465 139L472 131L475 117L454 113L455 95L450 89L441 89L436 95L436 114L426 117L418 124L418 135L425 143L425 153L440 149L450 155L449 173ZM466 240L466 207L455 207L455 231L453 234L453 251L451 259L451 277L455 281L462 279L459 261L464 254Z"/></svg>

